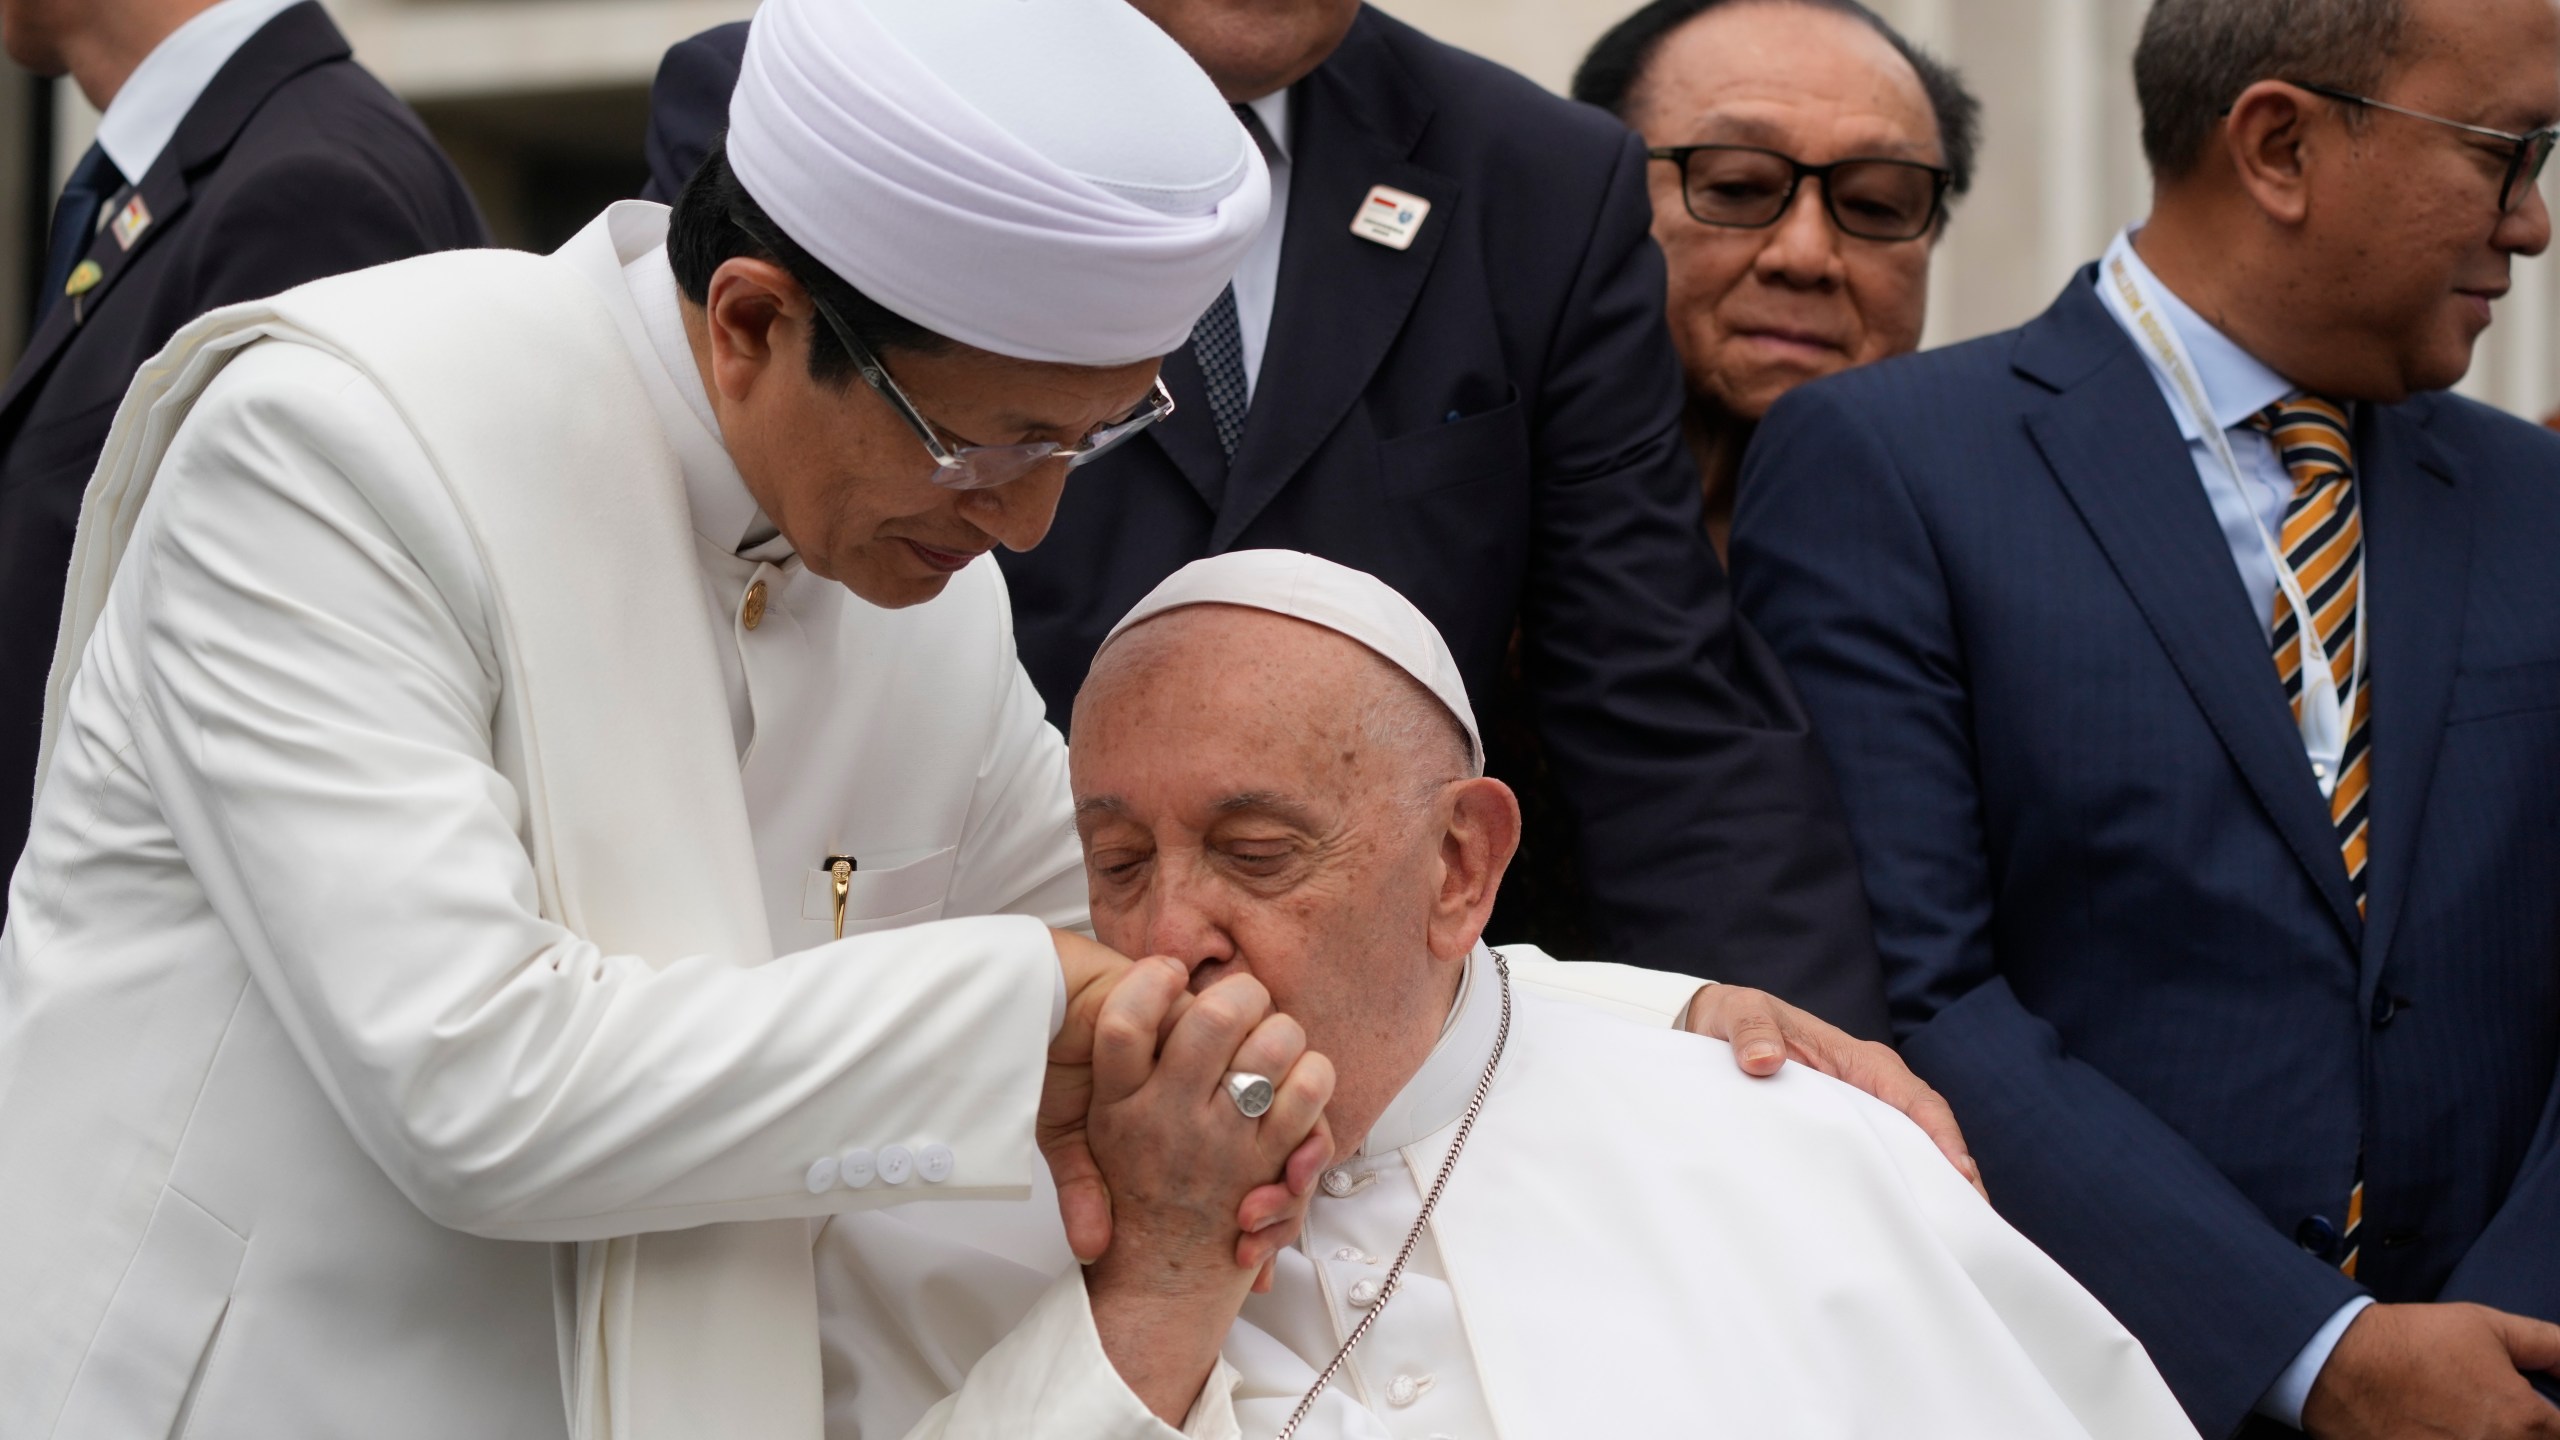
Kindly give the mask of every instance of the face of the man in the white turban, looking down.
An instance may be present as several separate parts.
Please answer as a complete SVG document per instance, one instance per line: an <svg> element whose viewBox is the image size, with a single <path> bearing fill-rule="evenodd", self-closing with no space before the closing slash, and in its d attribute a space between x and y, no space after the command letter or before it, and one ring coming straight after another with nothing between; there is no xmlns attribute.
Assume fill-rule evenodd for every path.
<svg viewBox="0 0 2560 1440"><path fill-rule="evenodd" d="M709 356L722 443L812 574L896 610L942 594L991 548L1029 551L1050 533L1065 461L993 489L934 484L924 441L881 392L809 374L809 333L822 323L786 272L753 259L722 264L709 305L686 307L696 356ZM1155 387L1155 361L1088 369L952 346L881 364L947 448L1075 443Z"/></svg>

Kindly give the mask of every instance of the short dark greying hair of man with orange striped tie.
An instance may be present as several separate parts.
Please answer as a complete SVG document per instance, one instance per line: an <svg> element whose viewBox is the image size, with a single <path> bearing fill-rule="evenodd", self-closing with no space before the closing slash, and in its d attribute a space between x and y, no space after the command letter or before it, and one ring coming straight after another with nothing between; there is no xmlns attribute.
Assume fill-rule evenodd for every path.
<svg viewBox="0 0 2560 1440"><path fill-rule="evenodd" d="M2260 79L2376 92L2406 26L2406 0L2156 0L2132 51L2153 174L2191 174L2232 100Z"/></svg>

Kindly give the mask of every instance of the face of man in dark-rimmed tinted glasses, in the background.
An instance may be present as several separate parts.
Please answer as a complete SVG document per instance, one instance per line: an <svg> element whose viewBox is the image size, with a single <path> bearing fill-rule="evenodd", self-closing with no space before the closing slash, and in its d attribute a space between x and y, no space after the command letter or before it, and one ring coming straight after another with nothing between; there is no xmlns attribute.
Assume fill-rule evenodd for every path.
<svg viewBox="0 0 2560 1440"><path fill-rule="evenodd" d="M1672 31L1628 118L1646 146L1943 164L1912 67L1856 18L1805 5L1728 5ZM1651 187L1654 238L1672 266L1672 338L1692 395L1759 420L1807 379L1920 346L1935 233L1843 236L1812 179L1764 231L1695 220L1669 161L1651 164Z"/></svg>

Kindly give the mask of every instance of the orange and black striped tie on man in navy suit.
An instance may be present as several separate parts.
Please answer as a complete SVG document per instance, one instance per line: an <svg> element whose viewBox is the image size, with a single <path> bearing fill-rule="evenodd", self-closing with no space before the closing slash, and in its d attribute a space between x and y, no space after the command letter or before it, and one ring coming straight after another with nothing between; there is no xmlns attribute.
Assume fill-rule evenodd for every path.
<svg viewBox="0 0 2560 1440"><path fill-rule="evenodd" d="M2355 446L2348 438L2348 410L2312 395L2268 405L2250 418L2266 430L2294 477L2294 500L2284 510L2284 564L2312 602L2319 643L2330 653L2337 697L2355 687L2348 715L2348 743L2330 789L2330 822L2348 861L2348 887L2355 912L2365 912L2365 794L2373 789L2373 743L2365 720L2373 715L2373 687L2355 684L2355 607L2365 584L2365 525L2355 507ZM2276 674L2301 723L2301 625L2284 594L2276 594ZM2355 1156L2355 1184L2348 1189L2348 1225L2337 1235L2337 1268L2355 1276L2360 1230L2365 1225L2365 1158Z"/></svg>

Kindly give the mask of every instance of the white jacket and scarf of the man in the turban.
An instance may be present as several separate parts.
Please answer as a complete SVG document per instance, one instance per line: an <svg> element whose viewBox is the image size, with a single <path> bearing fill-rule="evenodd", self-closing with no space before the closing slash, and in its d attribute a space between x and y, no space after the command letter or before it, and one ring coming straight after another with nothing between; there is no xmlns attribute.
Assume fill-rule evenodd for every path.
<svg viewBox="0 0 2560 1440"><path fill-rule="evenodd" d="M1039 920L1083 884L1001 577L888 612L691 536L717 446L622 277L658 215L261 302L443 331L484 418L284 338L197 356L202 395L184 338L141 377L174 405L128 405L102 482L156 482L138 523L92 487L84 561L136 528L72 579L0 935L0 1435L558 1437L538 1240L781 1220L806 1276L814 1217L1042 1174ZM842 943L827 853L865 863ZM812 1191L858 1145L952 1168ZM745 1379L814 1435L806 1304Z"/></svg>

